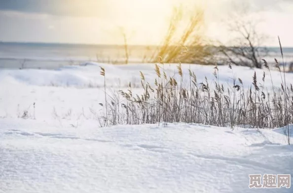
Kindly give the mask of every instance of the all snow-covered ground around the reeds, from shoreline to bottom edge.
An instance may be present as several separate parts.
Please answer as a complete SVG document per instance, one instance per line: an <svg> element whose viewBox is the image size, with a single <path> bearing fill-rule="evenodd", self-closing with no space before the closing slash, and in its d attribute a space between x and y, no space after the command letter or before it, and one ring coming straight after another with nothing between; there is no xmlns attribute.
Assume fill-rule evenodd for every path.
<svg viewBox="0 0 293 193"><path fill-rule="evenodd" d="M0 70L0 192L3 193L292 193L249 189L249 174L292 174L293 147L283 129L219 128L197 124L99 128L96 114L108 92L139 92L140 73L154 82L154 65L87 65L58 70ZM161 66L169 75L175 65ZM213 66L183 65L212 82ZM254 69L219 66L220 82ZM267 72L267 71L265 71ZM256 70L261 80L263 70ZM280 85L279 73L273 82ZM293 83L293 74L286 79ZM186 83L188 81L186 80ZM268 73L265 85L270 86ZM35 105L34 105L35 104ZM24 113L26 119L21 118Z"/></svg>

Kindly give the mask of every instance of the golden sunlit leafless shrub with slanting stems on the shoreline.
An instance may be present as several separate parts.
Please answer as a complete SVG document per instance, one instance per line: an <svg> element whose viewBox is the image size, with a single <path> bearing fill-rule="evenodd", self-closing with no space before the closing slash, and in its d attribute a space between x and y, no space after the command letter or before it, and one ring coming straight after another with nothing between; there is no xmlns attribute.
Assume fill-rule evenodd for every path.
<svg viewBox="0 0 293 193"><path fill-rule="evenodd" d="M208 42L199 34L204 22L204 11L195 9L189 16L189 21L183 33L177 37L183 21L183 8L174 7L167 33L157 49L153 52L149 62L211 64L213 56Z"/></svg>

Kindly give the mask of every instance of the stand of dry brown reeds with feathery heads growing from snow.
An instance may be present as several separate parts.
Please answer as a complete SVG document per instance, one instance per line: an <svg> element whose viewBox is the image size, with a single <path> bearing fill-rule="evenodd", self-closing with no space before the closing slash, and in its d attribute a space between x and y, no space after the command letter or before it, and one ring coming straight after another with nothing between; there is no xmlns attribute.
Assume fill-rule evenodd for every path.
<svg viewBox="0 0 293 193"><path fill-rule="evenodd" d="M266 60L263 60L263 63L270 73ZM232 66L228 67L234 76ZM127 91L120 90L119 94L110 95L110 102L106 101L105 106L108 108L104 117L105 125L184 122L230 126L232 129L235 126L287 126L293 122L293 86L291 84L290 88L287 87L285 73L281 73L277 60L275 68L280 72L282 83L279 89L276 89L272 81L273 91L270 93L264 86L265 72L261 81L255 72L252 76L252 86L246 90L242 80L237 77L233 77L233 85L220 84L217 64L213 73L216 78L213 87L207 78L204 82L198 83L195 73L190 69L190 84L186 85L183 82L181 63L177 66L177 73L172 77L167 77L164 69L155 65L157 78L154 80L154 87L146 82L143 72L140 72L143 93L134 95L130 83ZM176 81L176 76L179 76L177 80L180 82ZM123 99L120 100L119 96ZM290 140L288 142L290 143Z"/></svg>

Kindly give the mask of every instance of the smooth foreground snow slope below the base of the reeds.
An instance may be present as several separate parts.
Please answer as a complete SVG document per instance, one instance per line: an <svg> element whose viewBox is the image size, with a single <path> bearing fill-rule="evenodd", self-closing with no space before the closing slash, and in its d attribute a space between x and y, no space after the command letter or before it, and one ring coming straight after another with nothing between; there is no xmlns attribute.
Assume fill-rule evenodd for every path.
<svg viewBox="0 0 293 193"><path fill-rule="evenodd" d="M249 174L292 174L273 130L192 124L78 128L0 119L3 193L291 193L249 189Z"/></svg>

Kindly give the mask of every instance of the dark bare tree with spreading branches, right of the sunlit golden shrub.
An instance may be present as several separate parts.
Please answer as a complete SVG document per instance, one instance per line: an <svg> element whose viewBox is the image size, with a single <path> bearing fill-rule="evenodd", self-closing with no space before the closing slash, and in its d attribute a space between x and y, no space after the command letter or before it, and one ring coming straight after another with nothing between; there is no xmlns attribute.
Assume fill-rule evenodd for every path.
<svg viewBox="0 0 293 193"><path fill-rule="evenodd" d="M267 37L256 29L259 21L256 18L245 20L243 16L231 17L234 19L228 24L228 35L235 35L235 38L228 43L230 46L221 44L220 53L237 66L261 68L261 59L268 54L268 50L262 47Z"/></svg>

